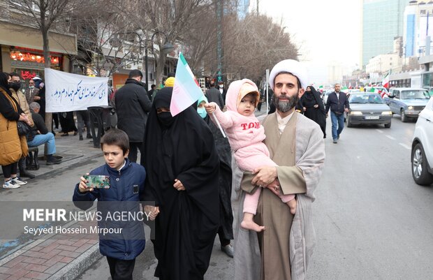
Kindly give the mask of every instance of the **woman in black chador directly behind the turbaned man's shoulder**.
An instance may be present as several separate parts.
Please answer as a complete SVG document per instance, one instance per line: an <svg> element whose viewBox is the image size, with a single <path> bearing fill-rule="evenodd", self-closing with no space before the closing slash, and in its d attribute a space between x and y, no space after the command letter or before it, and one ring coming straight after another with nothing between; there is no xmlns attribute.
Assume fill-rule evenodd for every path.
<svg viewBox="0 0 433 280"><path fill-rule="evenodd" d="M326 112L321 96L313 86L308 86L304 95L300 98L304 116L316 121L321 126L323 138L326 138Z"/></svg>

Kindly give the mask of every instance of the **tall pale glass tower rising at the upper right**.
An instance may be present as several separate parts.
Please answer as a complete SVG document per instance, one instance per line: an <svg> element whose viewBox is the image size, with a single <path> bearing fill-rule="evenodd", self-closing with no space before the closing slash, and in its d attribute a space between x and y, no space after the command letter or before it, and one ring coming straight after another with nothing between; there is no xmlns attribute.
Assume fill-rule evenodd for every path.
<svg viewBox="0 0 433 280"><path fill-rule="evenodd" d="M403 36L404 8L409 0L364 0L362 5L362 66L378 54L388 54L394 38Z"/></svg>

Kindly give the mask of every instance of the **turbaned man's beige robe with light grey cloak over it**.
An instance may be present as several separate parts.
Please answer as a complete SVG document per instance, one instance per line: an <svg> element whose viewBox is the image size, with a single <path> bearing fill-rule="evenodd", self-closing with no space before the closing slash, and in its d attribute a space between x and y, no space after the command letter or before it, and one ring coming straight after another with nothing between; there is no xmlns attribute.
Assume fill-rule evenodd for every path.
<svg viewBox="0 0 433 280"><path fill-rule="evenodd" d="M266 230L263 234L258 234L257 238L255 233L235 228L235 279L259 279L259 275L262 280L304 279L309 254L314 246L311 201L314 199L312 192L316 188L325 158L323 133L317 124L298 113L288 121L281 136L277 115L267 117L263 126L270 157L279 165L277 176L281 191L284 194L299 193L297 213L293 220L288 206L278 196L268 189L262 191L255 221L265 226ZM237 208L240 199L243 199L237 193L239 176L238 172L234 173L233 211L242 212L243 200L240 208ZM244 176L243 191L254 191L251 178ZM239 219L241 214L235 216ZM295 225L294 228L292 224ZM307 240L304 240L305 237ZM252 273L245 270L252 270Z"/></svg>

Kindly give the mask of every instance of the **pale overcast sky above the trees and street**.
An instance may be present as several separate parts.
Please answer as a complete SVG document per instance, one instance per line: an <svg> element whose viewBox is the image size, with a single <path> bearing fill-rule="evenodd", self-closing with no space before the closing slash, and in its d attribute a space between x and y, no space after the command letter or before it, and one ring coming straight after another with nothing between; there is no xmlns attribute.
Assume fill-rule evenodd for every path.
<svg viewBox="0 0 433 280"><path fill-rule="evenodd" d="M250 9L256 7L251 0ZM307 61L311 82L328 79L328 65L360 62L362 0L259 0L259 12L282 20Z"/></svg>

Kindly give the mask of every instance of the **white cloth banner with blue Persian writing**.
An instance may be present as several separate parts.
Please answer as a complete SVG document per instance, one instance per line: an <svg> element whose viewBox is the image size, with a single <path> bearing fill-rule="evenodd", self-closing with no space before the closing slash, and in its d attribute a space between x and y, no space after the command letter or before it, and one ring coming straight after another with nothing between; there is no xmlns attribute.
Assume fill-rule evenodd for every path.
<svg viewBox="0 0 433 280"><path fill-rule="evenodd" d="M108 78L45 68L45 112L71 112L108 105Z"/></svg>

